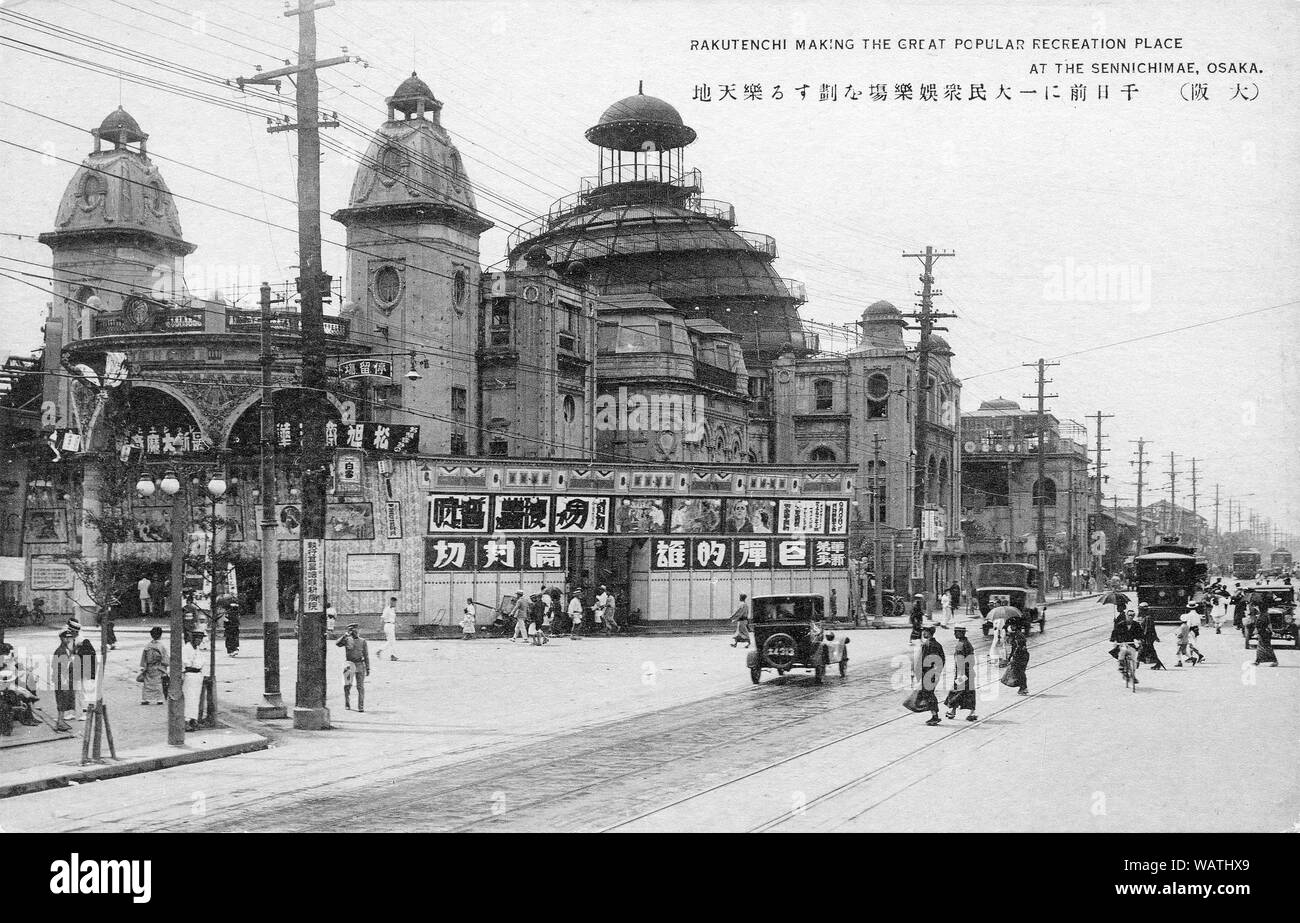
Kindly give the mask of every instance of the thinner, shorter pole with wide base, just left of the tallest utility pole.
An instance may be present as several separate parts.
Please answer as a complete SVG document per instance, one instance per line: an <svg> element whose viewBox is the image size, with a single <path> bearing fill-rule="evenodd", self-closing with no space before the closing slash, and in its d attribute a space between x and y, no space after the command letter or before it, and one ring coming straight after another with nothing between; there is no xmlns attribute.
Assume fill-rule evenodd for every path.
<svg viewBox="0 0 1300 923"><path fill-rule="evenodd" d="M276 543L276 404L272 400L270 286L261 283L261 638L263 693L257 718L287 718L280 696L280 555Z"/></svg>

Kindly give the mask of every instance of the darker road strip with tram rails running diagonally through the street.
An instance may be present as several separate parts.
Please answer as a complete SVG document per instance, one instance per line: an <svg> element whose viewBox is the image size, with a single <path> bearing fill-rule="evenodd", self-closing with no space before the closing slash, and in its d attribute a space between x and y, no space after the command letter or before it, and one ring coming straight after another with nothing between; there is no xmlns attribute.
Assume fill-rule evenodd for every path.
<svg viewBox="0 0 1300 923"><path fill-rule="evenodd" d="M1035 650L1050 650L1078 634L1096 632L1102 623L1098 608L1089 604L1050 624L1058 630L1049 629ZM845 627L837 625L836 630ZM972 640L978 642L980 637ZM979 644L980 653L987 646ZM196 827L182 826L322 829L380 824L391 829L391 819L402 818L416 829L503 829L551 812L567 826L576 822L584 829L601 829L610 826L614 810L638 802L653 807L662 801L664 788L685 793L702 779L733 776L732 770L746 760L746 753L760 757L764 750L797 748L801 737L816 733L814 728L798 731L810 722L835 723L836 715L845 715L842 722L858 720L854 710L872 711L874 703L898 694L889 680L900 668L900 655L905 656L900 651L855 660L861 666L850 668L846 681L832 677L823 686L789 681L745 686L712 699L595 724L432 771L420 771L417 759L403 760L411 772L369 789L364 811L337 797L299 790L242 802L229 812L209 815ZM889 684L881 686L881 682ZM734 753L728 754L731 749ZM625 792L614 803L604 797L611 786ZM490 810L498 798L506 806L499 812ZM556 811L562 805L566 810Z"/></svg>

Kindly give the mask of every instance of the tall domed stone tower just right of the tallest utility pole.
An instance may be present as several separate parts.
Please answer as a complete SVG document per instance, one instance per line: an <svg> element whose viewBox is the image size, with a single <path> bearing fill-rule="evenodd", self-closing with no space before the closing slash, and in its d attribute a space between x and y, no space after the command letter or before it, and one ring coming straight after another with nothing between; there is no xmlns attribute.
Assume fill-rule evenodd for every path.
<svg viewBox="0 0 1300 923"><path fill-rule="evenodd" d="M491 222L442 126L442 103L415 73L387 99L347 208L333 217L347 229L352 338L395 358L394 382L368 395L370 419L419 425L429 452L459 447L465 426L454 420L477 417L478 237Z"/></svg>

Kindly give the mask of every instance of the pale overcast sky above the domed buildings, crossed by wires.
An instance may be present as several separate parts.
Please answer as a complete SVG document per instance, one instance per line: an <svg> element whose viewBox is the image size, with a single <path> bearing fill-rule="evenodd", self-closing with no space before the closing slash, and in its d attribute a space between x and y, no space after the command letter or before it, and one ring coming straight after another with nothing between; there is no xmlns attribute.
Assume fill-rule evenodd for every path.
<svg viewBox="0 0 1300 923"><path fill-rule="evenodd" d="M514 225L595 173L584 130L644 82L696 129L685 160L702 172L705 195L734 204L740 228L776 238L779 273L807 286L806 318L848 324L878 299L910 309L919 264L902 254L950 250L936 266L935 306L958 315L944 335L965 410L1020 399L1035 381L1023 363L1060 361L1049 385L1060 396L1048 402L1058 417L1114 415L1104 422L1108 495L1134 498L1131 441L1144 438L1152 499L1169 495L1173 451L1180 503L1191 502L1196 458L1199 506L1212 521L1218 484L1225 521L1232 497L1300 533L1300 5L338 0L316 18L321 57L346 47L365 62L321 73L322 107L346 124L377 126L384 98L412 69L443 101L480 209L497 225L482 238L485 268L502 265ZM263 280L296 274L292 134L265 131L265 114L291 113L292 90L283 84L274 101L207 82L296 55L296 21L281 3L0 0L0 35L126 72L0 44L0 139L36 150L0 143L0 272L48 266L34 235L53 225L75 170L65 161L90 152L86 130L121 103L150 133L173 194L186 196L177 205L199 247L187 260L192 290L251 300ZM786 47L692 49L725 39ZM798 49L797 39L853 47ZM941 48L926 47L939 39ZM1035 49L1035 39L1127 47ZM1139 39L1166 47L1139 49ZM1005 47L1014 40L1023 49ZM1092 73L1136 61L1196 73ZM1058 73L1067 64L1083 73ZM1257 73L1209 73L1214 65ZM728 84L736 99L723 98ZM746 84L760 98L746 99ZM819 99L822 84L836 87L835 100ZM849 84L862 95L850 99ZM887 99L874 100L872 84ZM913 99L900 99L898 84L911 84ZM918 99L924 84L939 99ZM959 99L945 99L950 84ZM987 99L968 99L971 84ZM1076 84L1086 99L1071 100ZM1183 98L1192 84L1204 99ZM997 98L1004 86L1009 99ZM169 92L182 88L213 99ZM257 114L228 108L239 101ZM365 131L328 134L352 157L365 148ZM344 207L355 160L326 151L321 169L322 207ZM326 270L342 276L342 228L324 230ZM47 302L0 277L0 355L39 346Z"/></svg>

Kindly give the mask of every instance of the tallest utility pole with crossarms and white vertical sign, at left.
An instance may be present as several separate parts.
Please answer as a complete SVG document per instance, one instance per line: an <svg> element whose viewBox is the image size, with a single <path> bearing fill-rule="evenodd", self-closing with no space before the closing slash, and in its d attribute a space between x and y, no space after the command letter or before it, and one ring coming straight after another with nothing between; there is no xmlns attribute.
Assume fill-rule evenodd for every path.
<svg viewBox="0 0 1300 923"><path fill-rule="evenodd" d="M352 56L316 60L316 10L333 6L334 0L298 0L285 16L298 17L298 64L239 78L240 88L250 83L277 83L277 78L298 77L295 125L276 125L269 130L298 131L298 287L302 294L302 390L307 395L303 413L303 521L299 555L302 612L298 616L298 688L294 701L294 727L320 731L329 727L325 706L325 489L329 455L325 450L326 377L325 328L321 300L321 218L320 218L320 82L316 72L354 60ZM337 125L337 121L324 122ZM265 615L263 616L265 618ZM265 625L265 623L263 623Z"/></svg>

